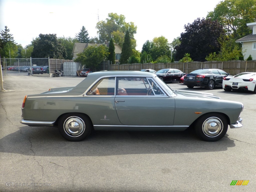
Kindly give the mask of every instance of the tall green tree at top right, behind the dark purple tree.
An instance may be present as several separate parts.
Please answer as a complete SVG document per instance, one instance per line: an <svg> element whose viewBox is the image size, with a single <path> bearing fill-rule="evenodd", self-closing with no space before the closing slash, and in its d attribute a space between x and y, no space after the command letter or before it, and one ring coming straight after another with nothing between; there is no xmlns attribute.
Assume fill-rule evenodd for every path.
<svg viewBox="0 0 256 192"><path fill-rule="evenodd" d="M234 40L251 33L247 23L256 22L256 0L224 0L206 18L218 20Z"/></svg>

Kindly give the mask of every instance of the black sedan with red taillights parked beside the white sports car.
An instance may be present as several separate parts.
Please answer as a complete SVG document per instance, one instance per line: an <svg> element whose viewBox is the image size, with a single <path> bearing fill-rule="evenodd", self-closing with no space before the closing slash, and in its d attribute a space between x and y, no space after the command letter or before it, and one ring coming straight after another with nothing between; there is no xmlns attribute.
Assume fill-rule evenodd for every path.
<svg viewBox="0 0 256 192"><path fill-rule="evenodd" d="M220 69L197 69L186 74L183 84L188 88L205 87L206 89L214 89L222 87L223 77L229 76L229 73Z"/></svg>

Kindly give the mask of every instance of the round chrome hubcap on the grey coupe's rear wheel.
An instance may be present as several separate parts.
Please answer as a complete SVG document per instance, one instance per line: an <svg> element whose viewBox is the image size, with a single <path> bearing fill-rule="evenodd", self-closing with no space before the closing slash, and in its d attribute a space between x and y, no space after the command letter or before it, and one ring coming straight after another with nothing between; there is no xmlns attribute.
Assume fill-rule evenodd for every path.
<svg viewBox="0 0 256 192"><path fill-rule="evenodd" d="M85 123L81 118L72 116L66 119L63 128L69 136L77 137L84 132Z"/></svg>

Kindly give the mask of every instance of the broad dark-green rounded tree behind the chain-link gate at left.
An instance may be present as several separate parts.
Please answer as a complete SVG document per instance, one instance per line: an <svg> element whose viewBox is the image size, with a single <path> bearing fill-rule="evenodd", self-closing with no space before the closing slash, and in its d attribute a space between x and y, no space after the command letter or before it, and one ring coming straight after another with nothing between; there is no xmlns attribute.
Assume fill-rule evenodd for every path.
<svg viewBox="0 0 256 192"><path fill-rule="evenodd" d="M39 38L33 41L33 44L32 58L64 59L67 57L66 48L61 45L56 34L39 34Z"/></svg>

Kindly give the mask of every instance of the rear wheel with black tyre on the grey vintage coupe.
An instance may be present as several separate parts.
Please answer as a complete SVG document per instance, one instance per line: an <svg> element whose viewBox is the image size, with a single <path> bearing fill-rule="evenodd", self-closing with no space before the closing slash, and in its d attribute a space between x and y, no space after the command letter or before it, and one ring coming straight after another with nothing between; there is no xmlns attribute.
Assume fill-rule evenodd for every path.
<svg viewBox="0 0 256 192"><path fill-rule="evenodd" d="M69 141L82 141L92 130L90 118L80 113L63 115L58 122L60 134Z"/></svg>

